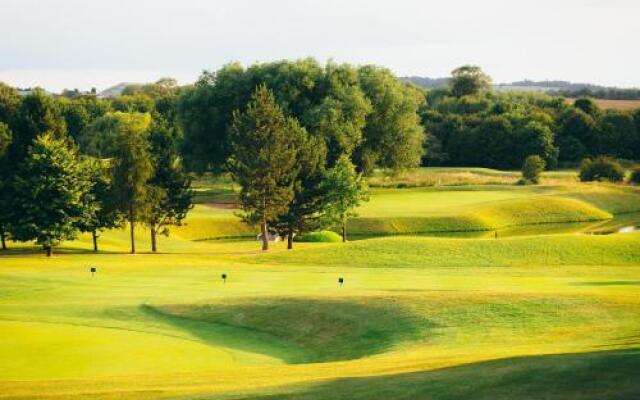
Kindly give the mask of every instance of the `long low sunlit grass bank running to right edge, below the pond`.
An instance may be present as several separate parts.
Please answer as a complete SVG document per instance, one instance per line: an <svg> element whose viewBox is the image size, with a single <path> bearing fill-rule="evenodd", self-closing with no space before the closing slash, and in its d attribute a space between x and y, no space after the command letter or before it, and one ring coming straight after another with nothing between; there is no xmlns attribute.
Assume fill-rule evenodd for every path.
<svg viewBox="0 0 640 400"><path fill-rule="evenodd" d="M496 267L640 263L640 235L491 239L393 237L261 255L247 262L352 267Z"/></svg>

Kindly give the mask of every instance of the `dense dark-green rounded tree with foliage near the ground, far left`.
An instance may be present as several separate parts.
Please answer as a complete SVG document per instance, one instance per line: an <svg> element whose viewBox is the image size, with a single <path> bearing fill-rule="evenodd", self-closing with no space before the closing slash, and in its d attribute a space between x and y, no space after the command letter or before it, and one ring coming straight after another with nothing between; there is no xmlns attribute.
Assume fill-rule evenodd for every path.
<svg viewBox="0 0 640 400"><path fill-rule="evenodd" d="M86 215L91 184L75 150L51 134L38 137L14 180L15 240L35 240L51 256L62 240L75 238Z"/></svg>

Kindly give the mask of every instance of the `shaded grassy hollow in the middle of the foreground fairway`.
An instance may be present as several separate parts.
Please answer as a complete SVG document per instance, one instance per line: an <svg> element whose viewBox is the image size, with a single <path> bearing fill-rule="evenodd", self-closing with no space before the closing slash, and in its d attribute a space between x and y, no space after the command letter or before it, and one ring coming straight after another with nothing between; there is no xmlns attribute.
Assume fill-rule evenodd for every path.
<svg viewBox="0 0 640 400"><path fill-rule="evenodd" d="M251 298L154 309L166 316L238 328L247 340L257 336L266 337L267 342L286 343L290 349L287 361L293 363L350 360L380 353L398 342L420 338L432 326L384 298ZM241 331L235 334L242 335ZM266 346L264 350L268 351Z"/></svg>

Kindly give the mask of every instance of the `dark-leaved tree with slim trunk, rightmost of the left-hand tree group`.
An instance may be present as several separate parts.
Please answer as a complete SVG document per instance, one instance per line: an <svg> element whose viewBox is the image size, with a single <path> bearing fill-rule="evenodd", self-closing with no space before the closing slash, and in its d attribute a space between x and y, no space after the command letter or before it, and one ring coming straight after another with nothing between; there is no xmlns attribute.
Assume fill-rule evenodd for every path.
<svg viewBox="0 0 640 400"><path fill-rule="evenodd" d="M193 207L191 179L183 172L178 155L176 132L168 123L157 120L149 133L153 176L146 224L151 233L151 250L157 251L158 234L168 236L169 226L181 225Z"/></svg>

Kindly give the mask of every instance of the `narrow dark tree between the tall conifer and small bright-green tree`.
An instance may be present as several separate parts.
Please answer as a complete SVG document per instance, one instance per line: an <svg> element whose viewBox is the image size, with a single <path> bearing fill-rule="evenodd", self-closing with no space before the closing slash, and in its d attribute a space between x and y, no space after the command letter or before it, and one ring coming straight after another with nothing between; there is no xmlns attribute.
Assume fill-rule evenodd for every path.
<svg viewBox="0 0 640 400"><path fill-rule="evenodd" d="M276 231L287 237L287 248L293 248L293 236L321 229L326 223L327 186L324 183L326 148L317 136L300 135L293 198L285 213L274 223Z"/></svg>

